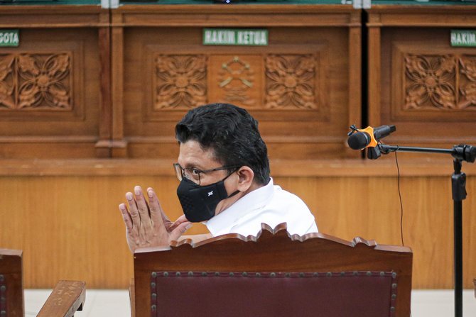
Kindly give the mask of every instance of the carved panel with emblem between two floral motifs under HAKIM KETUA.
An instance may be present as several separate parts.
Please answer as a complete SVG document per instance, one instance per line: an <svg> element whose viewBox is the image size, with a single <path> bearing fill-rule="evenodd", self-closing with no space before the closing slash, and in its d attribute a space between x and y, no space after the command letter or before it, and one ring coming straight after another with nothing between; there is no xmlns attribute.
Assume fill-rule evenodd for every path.
<svg viewBox="0 0 476 317"><path fill-rule="evenodd" d="M148 48L148 65L153 67L144 67L149 72L144 85L150 86L151 94L146 99L146 121L171 120L170 113L180 111L182 116L209 101L273 111L274 118L282 110L286 118L306 111L296 117L304 121L322 120L326 113L320 104L325 85L318 81L322 60L316 52L163 54L157 49Z"/></svg>

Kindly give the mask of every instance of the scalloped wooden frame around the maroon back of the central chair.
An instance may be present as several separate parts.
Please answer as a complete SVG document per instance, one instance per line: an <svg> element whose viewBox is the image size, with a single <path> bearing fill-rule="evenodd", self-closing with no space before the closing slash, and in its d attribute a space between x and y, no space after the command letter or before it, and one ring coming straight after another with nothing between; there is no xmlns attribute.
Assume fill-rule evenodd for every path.
<svg viewBox="0 0 476 317"><path fill-rule="evenodd" d="M290 236L286 223L271 229L265 224L257 237L222 235L200 243L190 239L171 246L134 252L132 316L151 315L153 272L392 272L398 296L391 316L410 316L410 248L377 245L355 238L347 242L322 233ZM392 284L393 287L393 284ZM179 300L179 299L178 299ZM180 302L178 301L178 304Z"/></svg>

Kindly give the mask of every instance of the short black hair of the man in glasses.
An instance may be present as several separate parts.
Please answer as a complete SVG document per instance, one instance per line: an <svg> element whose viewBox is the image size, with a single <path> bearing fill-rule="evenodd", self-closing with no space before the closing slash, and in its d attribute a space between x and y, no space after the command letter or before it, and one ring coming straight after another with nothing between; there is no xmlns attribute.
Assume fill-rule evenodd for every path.
<svg viewBox="0 0 476 317"><path fill-rule="evenodd" d="M175 126L179 143L195 140L202 150L212 150L225 166L247 166L254 181L269 182L268 150L258 121L245 109L232 104L207 104L188 111Z"/></svg>

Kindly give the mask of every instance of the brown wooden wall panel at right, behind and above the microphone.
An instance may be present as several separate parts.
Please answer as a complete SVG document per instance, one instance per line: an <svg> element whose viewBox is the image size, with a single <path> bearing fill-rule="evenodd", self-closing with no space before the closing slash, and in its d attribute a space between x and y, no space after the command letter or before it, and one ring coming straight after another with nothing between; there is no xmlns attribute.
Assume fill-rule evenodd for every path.
<svg viewBox="0 0 476 317"><path fill-rule="evenodd" d="M377 5L367 11L369 124L396 125L389 144L474 144L476 51L452 47L450 31L474 28L475 8Z"/></svg>

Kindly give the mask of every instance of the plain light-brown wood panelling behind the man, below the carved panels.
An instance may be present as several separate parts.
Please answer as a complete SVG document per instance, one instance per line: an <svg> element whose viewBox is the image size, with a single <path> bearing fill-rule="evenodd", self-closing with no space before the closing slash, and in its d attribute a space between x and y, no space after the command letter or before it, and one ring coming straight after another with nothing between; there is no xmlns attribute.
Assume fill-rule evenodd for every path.
<svg viewBox="0 0 476 317"><path fill-rule="evenodd" d="M276 177L275 182L302 197L315 214L320 232L345 240L361 236L401 245L396 177L345 176L337 170L332 177ZM145 174L0 177L0 245L23 250L25 286L48 288L58 279L82 279L93 289L126 288L132 277L132 257L117 208L125 202L124 193L135 184L154 187L169 216L180 215L175 194L178 181L172 172L170 176ZM467 191L463 254L465 287L469 288L476 274L474 172L468 177ZM414 252L413 289L452 288L449 176L402 177L401 193L404 243ZM200 224L188 231L205 232Z"/></svg>

